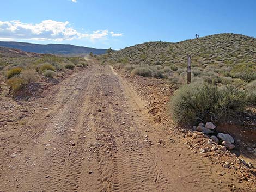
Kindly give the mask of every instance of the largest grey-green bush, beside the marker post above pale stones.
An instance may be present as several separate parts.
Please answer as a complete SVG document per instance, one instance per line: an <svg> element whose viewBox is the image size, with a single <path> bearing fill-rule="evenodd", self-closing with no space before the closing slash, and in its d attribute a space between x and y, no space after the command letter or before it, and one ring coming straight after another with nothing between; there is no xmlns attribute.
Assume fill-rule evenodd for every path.
<svg viewBox="0 0 256 192"><path fill-rule="evenodd" d="M246 107L246 93L234 86L218 87L191 83L170 99L170 112L177 122L221 121Z"/></svg>

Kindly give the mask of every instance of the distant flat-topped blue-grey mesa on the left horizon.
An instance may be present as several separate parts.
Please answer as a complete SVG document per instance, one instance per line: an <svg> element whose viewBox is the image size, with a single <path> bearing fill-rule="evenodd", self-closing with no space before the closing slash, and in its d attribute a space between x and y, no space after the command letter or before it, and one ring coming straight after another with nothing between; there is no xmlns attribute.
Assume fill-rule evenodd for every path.
<svg viewBox="0 0 256 192"><path fill-rule="evenodd" d="M48 53L58 55L78 55L78 54L89 54L92 52L95 55L106 53L106 49L96 49L90 47L81 47L67 44L30 44L25 42L6 42L0 41L0 46L20 49L25 52L34 53Z"/></svg>

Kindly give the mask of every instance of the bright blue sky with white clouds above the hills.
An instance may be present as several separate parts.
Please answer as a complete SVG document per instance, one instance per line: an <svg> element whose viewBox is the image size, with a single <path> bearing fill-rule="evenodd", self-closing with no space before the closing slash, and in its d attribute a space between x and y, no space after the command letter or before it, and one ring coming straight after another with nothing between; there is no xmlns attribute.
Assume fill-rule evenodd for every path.
<svg viewBox="0 0 256 192"><path fill-rule="evenodd" d="M217 33L256 37L256 1L1 1L0 40L124 48Z"/></svg>

